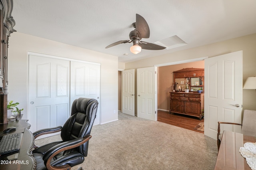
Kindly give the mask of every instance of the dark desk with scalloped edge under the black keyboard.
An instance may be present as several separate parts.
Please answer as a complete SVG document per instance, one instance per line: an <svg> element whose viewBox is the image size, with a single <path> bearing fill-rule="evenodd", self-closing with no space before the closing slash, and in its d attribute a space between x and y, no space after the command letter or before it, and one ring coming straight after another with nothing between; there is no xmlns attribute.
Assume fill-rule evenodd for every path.
<svg viewBox="0 0 256 170"><path fill-rule="evenodd" d="M18 159L12 160L11 164L4 164L6 162L0 160L1 170L34 170L36 169L36 160L32 156L32 148L34 146L34 136L30 130L28 120L8 121L8 124L0 125L0 132L8 127L16 127L15 131L8 134L23 132L22 141L20 144L20 152ZM1 134L4 136L6 134ZM1 158L4 159L4 158Z"/></svg>

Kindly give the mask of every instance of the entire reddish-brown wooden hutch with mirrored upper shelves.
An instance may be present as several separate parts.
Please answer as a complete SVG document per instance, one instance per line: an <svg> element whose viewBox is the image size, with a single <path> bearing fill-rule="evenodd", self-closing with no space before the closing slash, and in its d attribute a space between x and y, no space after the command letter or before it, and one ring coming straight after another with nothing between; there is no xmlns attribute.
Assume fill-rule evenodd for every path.
<svg viewBox="0 0 256 170"><path fill-rule="evenodd" d="M186 68L174 71L173 81L170 113L190 115L201 120L204 117L204 69Z"/></svg>

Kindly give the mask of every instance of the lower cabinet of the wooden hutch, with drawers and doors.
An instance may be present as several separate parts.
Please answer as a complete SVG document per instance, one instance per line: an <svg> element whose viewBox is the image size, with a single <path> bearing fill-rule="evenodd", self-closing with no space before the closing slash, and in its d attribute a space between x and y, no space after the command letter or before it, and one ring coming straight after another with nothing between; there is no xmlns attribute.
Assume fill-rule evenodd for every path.
<svg viewBox="0 0 256 170"><path fill-rule="evenodd" d="M204 93L170 92L170 113L204 116Z"/></svg>

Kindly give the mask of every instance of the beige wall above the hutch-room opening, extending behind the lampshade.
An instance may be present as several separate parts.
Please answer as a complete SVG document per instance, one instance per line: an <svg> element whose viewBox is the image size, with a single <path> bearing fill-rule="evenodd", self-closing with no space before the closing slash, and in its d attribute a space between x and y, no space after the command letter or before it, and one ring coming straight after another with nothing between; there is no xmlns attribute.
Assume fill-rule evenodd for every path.
<svg viewBox="0 0 256 170"><path fill-rule="evenodd" d="M247 77L256 76L256 34L126 63L125 69L152 67L157 64L196 59L206 56L214 57L240 50L243 51L244 82ZM243 90L243 105L244 109L256 110L255 90Z"/></svg>

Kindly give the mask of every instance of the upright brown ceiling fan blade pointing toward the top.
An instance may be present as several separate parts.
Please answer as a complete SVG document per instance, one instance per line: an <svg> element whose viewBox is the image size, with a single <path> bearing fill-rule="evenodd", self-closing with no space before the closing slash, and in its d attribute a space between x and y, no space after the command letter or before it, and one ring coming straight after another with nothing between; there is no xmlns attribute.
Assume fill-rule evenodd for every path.
<svg viewBox="0 0 256 170"><path fill-rule="evenodd" d="M149 38L150 31L149 31L148 23L139 14L136 14L136 26L135 26L135 29L140 33L140 38Z"/></svg>

